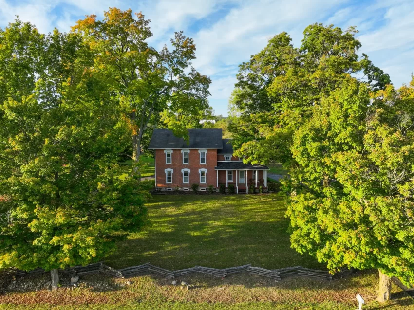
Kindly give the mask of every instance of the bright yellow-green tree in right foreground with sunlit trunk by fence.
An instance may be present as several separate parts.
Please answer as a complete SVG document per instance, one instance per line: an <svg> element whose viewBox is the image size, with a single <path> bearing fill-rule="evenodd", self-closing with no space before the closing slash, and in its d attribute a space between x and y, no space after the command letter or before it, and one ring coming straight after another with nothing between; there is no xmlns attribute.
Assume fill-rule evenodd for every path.
<svg viewBox="0 0 414 310"><path fill-rule="evenodd" d="M292 246L330 270L377 268L414 284L414 80L368 92L349 79L294 136Z"/></svg>

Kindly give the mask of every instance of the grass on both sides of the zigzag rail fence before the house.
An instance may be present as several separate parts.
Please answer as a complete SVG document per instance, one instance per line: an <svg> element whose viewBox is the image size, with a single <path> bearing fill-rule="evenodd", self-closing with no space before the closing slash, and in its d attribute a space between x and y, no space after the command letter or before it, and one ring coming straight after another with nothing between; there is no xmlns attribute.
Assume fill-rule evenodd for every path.
<svg viewBox="0 0 414 310"><path fill-rule="evenodd" d="M307 255L290 249L284 198L270 195L155 195L148 203L151 226L118 244L107 264L115 268L151 262L171 270L194 265L223 268L251 263L265 268L303 265L322 269ZM41 279L41 277L43 277ZM70 275L68 276L70 277ZM22 278L44 283L49 274ZM364 310L414 310L414 301L393 285L393 300L375 301L377 271L326 281L289 278L281 282L251 274L224 279L183 276L192 290L172 286L155 274L127 279L81 275L79 288L0 294L0 310L355 310L356 294ZM96 289L108 283L107 290ZM93 288L92 288L93 287Z"/></svg>

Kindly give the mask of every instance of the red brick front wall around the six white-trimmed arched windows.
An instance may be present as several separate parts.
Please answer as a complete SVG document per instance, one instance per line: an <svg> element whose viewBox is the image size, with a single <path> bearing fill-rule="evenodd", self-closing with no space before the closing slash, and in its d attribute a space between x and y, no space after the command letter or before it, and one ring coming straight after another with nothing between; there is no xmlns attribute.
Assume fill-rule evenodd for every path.
<svg viewBox="0 0 414 310"><path fill-rule="evenodd" d="M200 184L199 169L207 169L206 184L200 184L200 187L207 187L208 185L216 186L216 171L214 167L217 165L217 149L207 149L206 164L200 164L200 153L198 149L190 149L188 154L188 164L183 164L183 154L181 149L173 149L171 154L171 164L166 164L166 155L163 149L155 150L155 170L157 187L161 189L175 188L179 186L191 187L193 183ZM165 169L173 169L172 183L166 183ZM189 183L183 183L183 174L181 169L190 169Z"/></svg>

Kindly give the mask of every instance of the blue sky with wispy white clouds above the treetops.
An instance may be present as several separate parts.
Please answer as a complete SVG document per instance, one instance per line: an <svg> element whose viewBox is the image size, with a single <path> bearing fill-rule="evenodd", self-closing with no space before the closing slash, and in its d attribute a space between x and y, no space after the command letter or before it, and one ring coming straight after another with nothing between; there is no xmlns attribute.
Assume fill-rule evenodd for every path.
<svg viewBox="0 0 414 310"><path fill-rule="evenodd" d="M282 31L299 46L303 29L314 22L357 26L360 53L390 74L395 86L408 83L414 72L414 0L0 0L0 27L19 15L41 32L69 31L84 15L101 18L109 7L142 11L158 49L174 31L194 38L193 65L212 79L209 102L216 114L227 114L241 62Z"/></svg>

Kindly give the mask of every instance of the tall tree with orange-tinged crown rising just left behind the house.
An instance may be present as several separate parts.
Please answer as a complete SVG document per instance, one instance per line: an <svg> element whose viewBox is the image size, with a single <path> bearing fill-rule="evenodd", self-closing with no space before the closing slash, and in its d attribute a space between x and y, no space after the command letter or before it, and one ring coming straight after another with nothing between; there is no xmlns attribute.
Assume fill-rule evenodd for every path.
<svg viewBox="0 0 414 310"><path fill-rule="evenodd" d="M171 49L165 45L157 51L147 43L152 36L149 23L141 13L134 18L131 10L110 8L102 21L90 15L73 27L90 43L94 68L113 83L130 124L134 161L139 160L144 132L160 124L162 112L175 115L163 118L165 126L177 135L187 134L186 119L197 118L208 109L211 83L191 66L193 39L177 32L170 41Z"/></svg>

